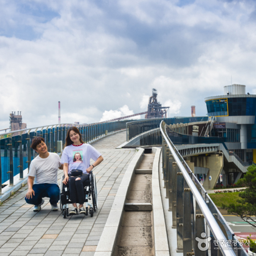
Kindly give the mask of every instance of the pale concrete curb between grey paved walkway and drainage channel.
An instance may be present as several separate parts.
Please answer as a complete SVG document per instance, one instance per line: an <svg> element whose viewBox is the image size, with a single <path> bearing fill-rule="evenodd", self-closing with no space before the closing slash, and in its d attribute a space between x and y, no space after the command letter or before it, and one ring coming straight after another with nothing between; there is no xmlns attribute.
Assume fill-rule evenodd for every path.
<svg viewBox="0 0 256 256"><path fill-rule="evenodd" d="M116 197L109 213L109 217L103 229L101 238L99 239L99 243L94 256L111 256L112 252L114 251L128 188L132 180L132 176L134 175L134 170L140 163L144 153L143 148L136 149L138 150L138 153L136 153L135 157L133 157L131 163L127 167L123 180L121 181L120 187L118 188Z"/></svg>

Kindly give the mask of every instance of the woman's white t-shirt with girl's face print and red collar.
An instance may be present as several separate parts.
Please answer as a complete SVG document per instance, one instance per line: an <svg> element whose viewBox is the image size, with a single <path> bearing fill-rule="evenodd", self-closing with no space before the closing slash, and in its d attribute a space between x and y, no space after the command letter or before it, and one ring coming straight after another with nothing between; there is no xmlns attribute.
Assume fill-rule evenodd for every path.
<svg viewBox="0 0 256 256"><path fill-rule="evenodd" d="M90 166L90 159L96 161L100 156L101 153L90 144L69 145L62 152L61 163L68 163L68 173L71 170L82 170L83 173L87 173L86 169Z"/></svg>

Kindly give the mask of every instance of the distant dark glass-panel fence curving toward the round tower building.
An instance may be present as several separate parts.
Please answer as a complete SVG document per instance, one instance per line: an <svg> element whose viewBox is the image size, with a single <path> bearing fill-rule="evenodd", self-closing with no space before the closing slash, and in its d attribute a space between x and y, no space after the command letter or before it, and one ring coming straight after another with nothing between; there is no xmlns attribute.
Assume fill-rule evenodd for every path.
<svg viewBox="0 0 256 256"><path fill-rule="evenodd" d="M159 128L161 121L165 121L166 124L179 124L179 123L192 123L192 122L200 122L207 121L208 116L197 116L197 117L173 117L173 118L155 118L155 119L145 119L139 121L132 121L127 123L127 138L134 138L140 133L150 131L155 128Z"/></svg>

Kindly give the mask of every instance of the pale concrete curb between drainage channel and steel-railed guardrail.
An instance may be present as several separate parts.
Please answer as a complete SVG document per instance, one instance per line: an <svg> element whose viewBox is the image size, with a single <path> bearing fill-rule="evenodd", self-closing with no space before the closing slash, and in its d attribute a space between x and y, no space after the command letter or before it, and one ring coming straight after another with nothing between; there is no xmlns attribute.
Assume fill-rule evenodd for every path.
<svg viewBox="0 0 256 256"><path fill-rule="evenodd" d="M161 199L159 185L159 160L161 148L153 147L152 153L155 154L152 169L152 201L153 201L153 225L154 225L154 242L156 256L169 256L169 244L165 224L165 216L163 213L163 205Z"/></svg>

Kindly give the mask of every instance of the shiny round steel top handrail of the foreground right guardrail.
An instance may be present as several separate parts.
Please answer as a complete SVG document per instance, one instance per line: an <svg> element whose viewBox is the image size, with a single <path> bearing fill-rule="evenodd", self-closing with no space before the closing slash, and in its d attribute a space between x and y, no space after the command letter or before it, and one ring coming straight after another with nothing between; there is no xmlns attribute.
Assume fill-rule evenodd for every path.
<svg viewBox="0 0 256 256"><path fill-rule="evenodd" d="M167 144L167 147L169 148L175 162L177 163L178 168L180 169L180 171L181 171L182 175L184 176L189 188L191 189L191 192L192 192L196 202L198 203L199 208L202 211L203 216L206 219L206 222L207 222L208 226L210 227L210 230L211 230L213 236L218 241L221 241L221 240L226 241L226 237L223 234L221 228L219 227L217 221L215 220L214 216L212 215L212 213L211 213L210 209L208 208L206 202L204 201L202 195L200 194L200 192L196 188L195 184L193 183L193 181L192 181L191 177L189 176L187 170L183 166L183 163L185 161L181 162L181 159L183 159L183 158L179 154L178 150L176 149L176 147L174 146L172 141L167 136L166 131L165 131L165 126L166 126L165 122L162 121L161 124L160 124L160 130L161 130L162 136L165 140L165 143ZM223 244L220 244L219 246L222 248L221 251L222 251L223 255L225 255L225 256L229 256L229 255L234 256L234 255L236 255L233 252L230 245L228 245L226 243L223 243ZM224 248L229 248L229 249L226 250Z"/></svg>

